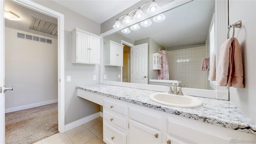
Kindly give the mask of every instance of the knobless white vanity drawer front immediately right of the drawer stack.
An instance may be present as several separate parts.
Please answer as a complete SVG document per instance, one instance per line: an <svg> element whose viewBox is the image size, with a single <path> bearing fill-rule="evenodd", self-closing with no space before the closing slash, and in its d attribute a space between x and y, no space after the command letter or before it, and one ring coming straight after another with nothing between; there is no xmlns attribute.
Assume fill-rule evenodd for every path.
<svg viewBox="0 0 256 144"><path fill-rule="evenodd" d="M152 115L145 111L138 111L133 108L129 108L130 119L145 124L146 126L150 126L151 128L155 128L157 130L161 130L161 116L160 115Z"/></svg>

